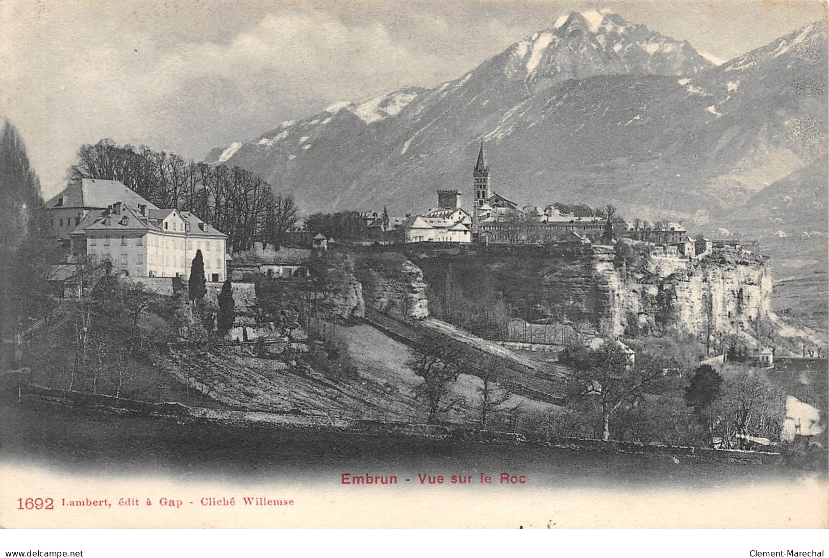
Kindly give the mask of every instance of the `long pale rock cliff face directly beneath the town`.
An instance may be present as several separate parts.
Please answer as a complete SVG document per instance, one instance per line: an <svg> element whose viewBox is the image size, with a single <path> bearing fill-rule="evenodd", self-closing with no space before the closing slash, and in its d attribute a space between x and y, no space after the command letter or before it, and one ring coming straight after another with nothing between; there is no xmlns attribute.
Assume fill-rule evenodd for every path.
<svg viewBox="0 0 829 558"><path fill-rule="evenodd" d="M626 245L412 248L439 318L460 303L470 319L503 300L511 316L566 323L604 337L725 336L770 311L768 260L721 252L689 260L671 248ZM481 317L478 316L478 321Z"/></svg>

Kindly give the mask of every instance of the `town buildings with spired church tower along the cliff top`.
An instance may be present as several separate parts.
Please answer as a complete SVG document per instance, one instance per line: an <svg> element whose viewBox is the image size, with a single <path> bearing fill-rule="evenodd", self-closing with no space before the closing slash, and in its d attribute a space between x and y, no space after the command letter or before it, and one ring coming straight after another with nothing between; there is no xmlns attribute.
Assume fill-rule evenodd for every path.
<svg viewBox="0 0 829 558"><path fill-rule="evenodd" d="M492 189L492 169L487 163L484 143L473 167L473 206L463 208L464 192L445 189L437 192L437 206L423 213L390 216L383 211L348 211L349 226L336 223L334 215L317 214L298 219L288 231L288 242L296 246L322 247L328 243L345 245L389 245L397 243L438 242L449 244L546 244L581 242L608 244L620 239L636 240L669 247L688 258L701 258L715 250L756 250L752 240L708 240L696 237L680 222L666 219L648 222L640 218L625 220L612 205L593 209L584 204L555 203L547 206L519 207ZM340 235L335 234L341 233ZM749 250L750 249L750 250Z"/></svg>

